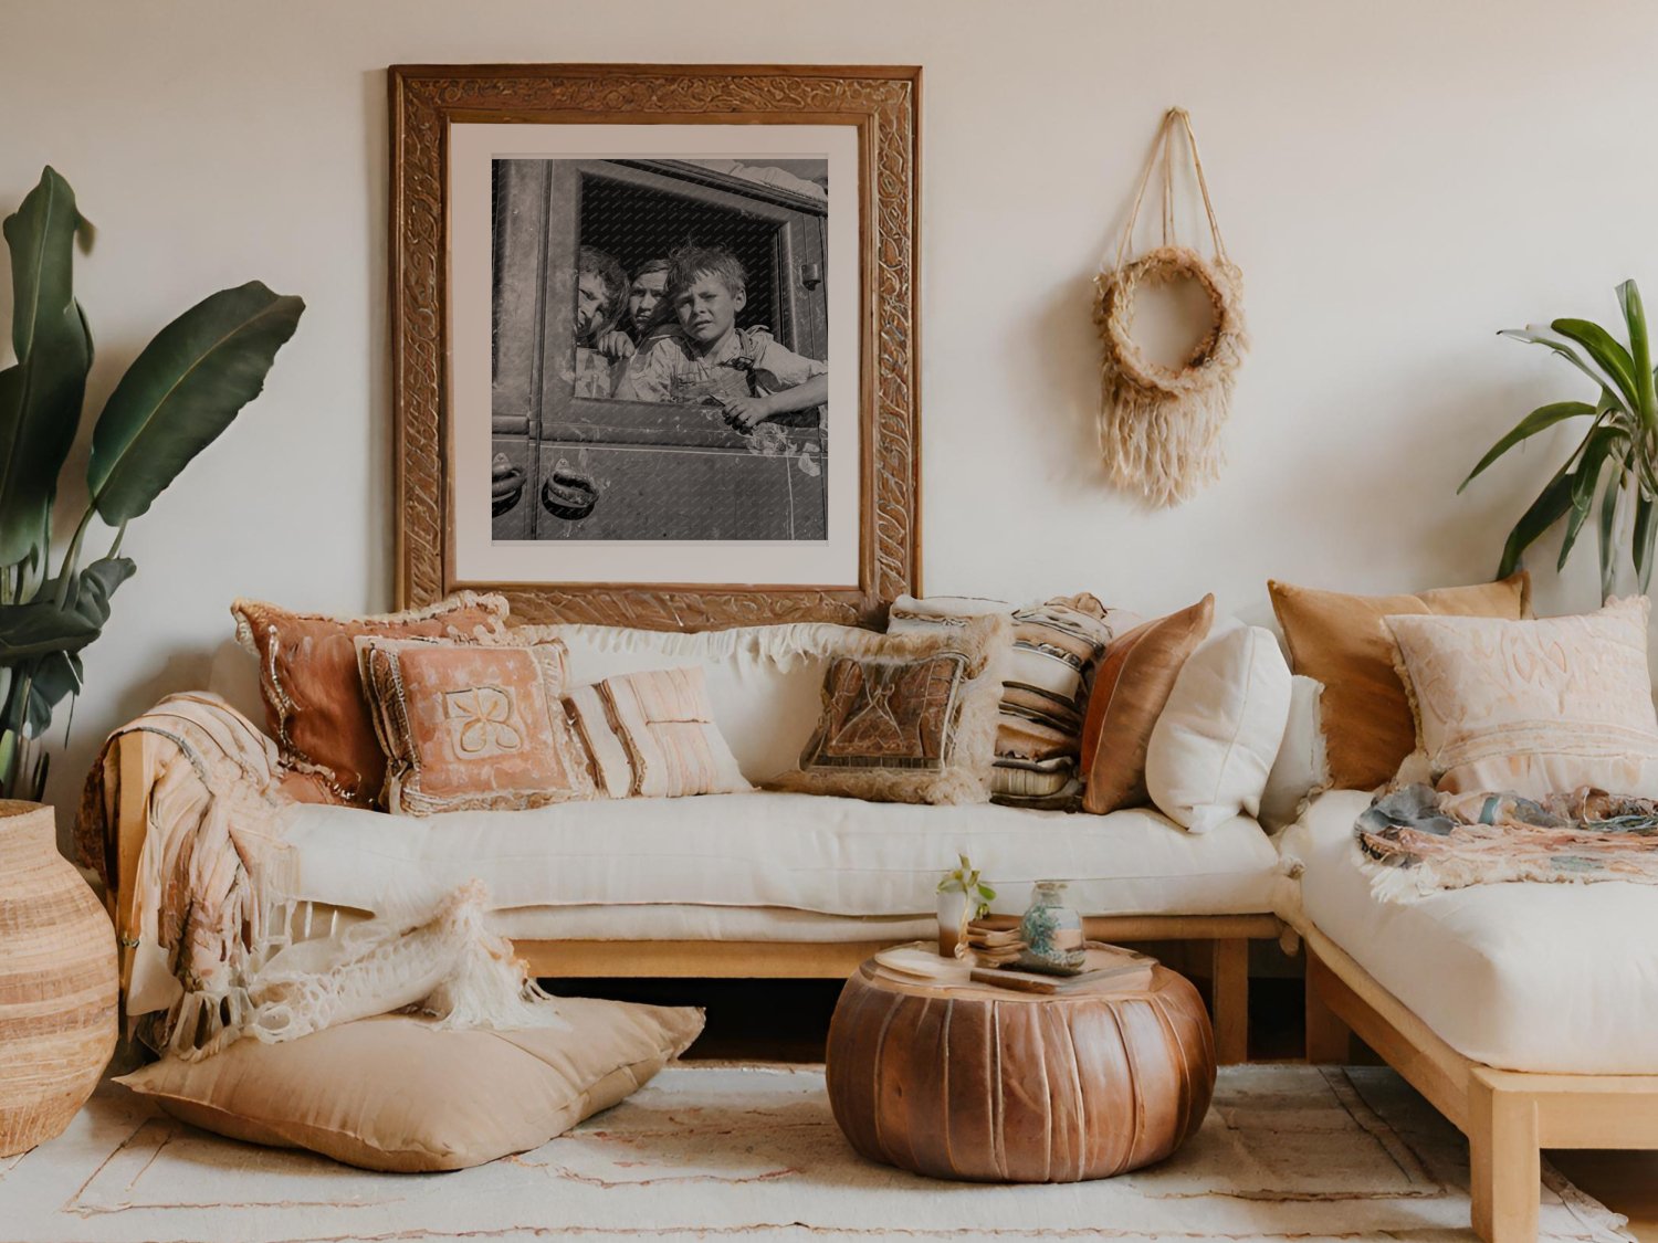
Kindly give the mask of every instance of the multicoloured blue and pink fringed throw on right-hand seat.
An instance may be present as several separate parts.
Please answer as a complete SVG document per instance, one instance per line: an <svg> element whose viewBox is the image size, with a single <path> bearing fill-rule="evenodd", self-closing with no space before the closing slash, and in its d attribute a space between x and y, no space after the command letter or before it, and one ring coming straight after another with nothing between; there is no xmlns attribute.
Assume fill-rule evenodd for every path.
<svg viewBox="0 0 1658 1243"><path fill-rule="evenodd" d="M1404 786L1378 797L1353 834L1371 890L1388 902L1509 880L1658 885L1658 800L1588 787L1537 802Z"/></svg>

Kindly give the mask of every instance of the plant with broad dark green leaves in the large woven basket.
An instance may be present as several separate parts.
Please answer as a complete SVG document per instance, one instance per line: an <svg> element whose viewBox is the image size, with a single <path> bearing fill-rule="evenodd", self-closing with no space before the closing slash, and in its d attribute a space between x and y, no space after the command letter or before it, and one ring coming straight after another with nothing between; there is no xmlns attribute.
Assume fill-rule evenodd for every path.
<svg viewBox="0 0 1658 1243"><path fill-rule="evenodd" d="M0 797L38 800L48 752L36 739L81 689L81 651L138 568L121 555L126 524L259 394L305 303L255 280L204 298L156 333L93 424L86 507L53 567L53 505L93 363L73 288L75 244L86 244L91 229L75 191L46 167L3 234L17 361L0 371ZM93 517L114 539L83 565Z"/></svg>

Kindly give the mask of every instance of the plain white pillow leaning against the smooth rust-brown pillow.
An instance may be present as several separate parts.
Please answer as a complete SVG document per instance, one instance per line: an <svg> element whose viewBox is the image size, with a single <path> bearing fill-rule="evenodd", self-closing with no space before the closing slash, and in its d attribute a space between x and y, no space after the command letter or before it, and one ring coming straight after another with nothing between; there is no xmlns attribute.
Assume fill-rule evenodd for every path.
<svg viewBox="0 0 1658 1243"><path fill-rule="evenodd" d="M1258 815L1290 719L1290 666L1270 631L1234 623L1190 655L1151 733L1146 789L1157 810L1204 834Z"/></svg>

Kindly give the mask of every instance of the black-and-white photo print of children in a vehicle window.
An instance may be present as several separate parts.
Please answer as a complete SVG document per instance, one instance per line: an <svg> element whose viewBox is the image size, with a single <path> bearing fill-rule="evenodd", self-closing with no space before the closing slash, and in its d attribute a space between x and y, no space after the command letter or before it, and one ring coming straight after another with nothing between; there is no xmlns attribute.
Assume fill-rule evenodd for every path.
<svg viewBox="0 0 1658 1243"><path fill-rule="evenodd" d="M494 540L829 537L829 159L494 159Z"/></svg>

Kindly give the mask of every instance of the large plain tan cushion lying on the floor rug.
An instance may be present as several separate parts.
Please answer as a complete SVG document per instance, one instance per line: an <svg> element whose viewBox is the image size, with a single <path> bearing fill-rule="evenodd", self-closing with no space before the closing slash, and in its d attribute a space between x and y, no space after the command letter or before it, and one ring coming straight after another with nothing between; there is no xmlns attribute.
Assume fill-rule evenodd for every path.
<svg viewBox="0 0 1658 1243"><path fill-rule="evenodd" d="M285 1044L244 1037L199 1062L116 1082L172 1117L365 1170L464 1170L537 1149L683 1052L703 1013L560 998L569 1031L434 1031L383 1014Z"/></svg>

